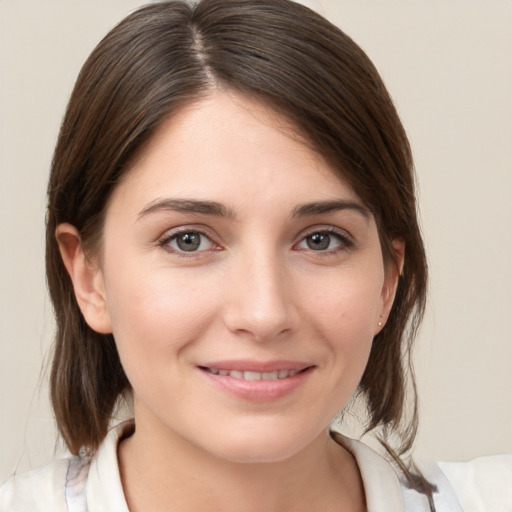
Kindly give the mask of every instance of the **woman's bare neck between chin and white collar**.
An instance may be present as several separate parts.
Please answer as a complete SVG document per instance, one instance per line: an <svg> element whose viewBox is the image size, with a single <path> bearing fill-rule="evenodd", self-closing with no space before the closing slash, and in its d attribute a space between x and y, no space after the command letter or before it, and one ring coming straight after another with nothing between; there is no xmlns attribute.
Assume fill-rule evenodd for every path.
<svg viewBox="0 0 512 512"><path fill-rule="evenodd" d="M118 457L131 512L364 510L357 464L327 432L286 460L239 463L137 424Z"/></svg>

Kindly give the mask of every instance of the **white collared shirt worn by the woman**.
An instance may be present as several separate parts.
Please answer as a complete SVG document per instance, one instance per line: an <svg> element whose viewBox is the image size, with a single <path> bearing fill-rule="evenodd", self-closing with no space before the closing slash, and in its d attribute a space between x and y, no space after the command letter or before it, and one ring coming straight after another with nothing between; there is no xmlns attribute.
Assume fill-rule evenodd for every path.
<svg viewBox="0 0 512 512"><path fill-rule="evenodd" d="M12 476L0 487L0 512L129 512L117 445L129 422L112 429L98 451L55 459ZM365 444L336 435L355 457L368 512L428 512L426 498L407 489L392 466ZM437 512L512 512L512 454L422 467L435 483ZM177 511L179 512L179 511Z"/></svg>

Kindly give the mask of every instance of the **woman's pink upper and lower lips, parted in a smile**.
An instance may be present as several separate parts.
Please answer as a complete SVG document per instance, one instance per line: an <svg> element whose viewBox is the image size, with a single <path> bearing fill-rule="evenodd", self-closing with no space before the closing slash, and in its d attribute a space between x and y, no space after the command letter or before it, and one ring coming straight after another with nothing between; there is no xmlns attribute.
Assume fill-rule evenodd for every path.
<svg viewBox="0 0 512 512"><path fill-rule="evenodd" d="M208 368L228 371L275 372L288 370L297 372L282 379L274 380L244 380L229 375L215 375ZM314 365L299 361L215 361L198 366L201 374L221 391L252 402L271 402L283 398L299 387L309 378Z"/></svg>

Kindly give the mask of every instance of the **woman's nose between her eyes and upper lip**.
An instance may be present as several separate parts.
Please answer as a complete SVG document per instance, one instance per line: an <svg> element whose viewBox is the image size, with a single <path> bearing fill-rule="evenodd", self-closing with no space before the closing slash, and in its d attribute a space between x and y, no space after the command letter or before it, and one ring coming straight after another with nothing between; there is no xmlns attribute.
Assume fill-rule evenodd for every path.
<svg viewBox="0 0 512 512"><path fill-rule="evenodd" d="M260 342L293 332L299 314L285 263L274 254L253 254L241 257L236 267L228 279L229 298L224 312L227 328Z"/></svg>

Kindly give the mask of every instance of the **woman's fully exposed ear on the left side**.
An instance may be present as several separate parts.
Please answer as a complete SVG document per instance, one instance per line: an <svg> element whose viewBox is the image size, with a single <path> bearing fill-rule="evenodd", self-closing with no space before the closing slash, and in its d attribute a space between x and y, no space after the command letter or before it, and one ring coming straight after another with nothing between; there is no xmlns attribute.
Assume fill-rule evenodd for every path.
<svg viewBox="0 0 512 512"><path fill-rule="evenodd" d="M55 237L85 321L94 331L110 334L112 324L101 269L84 254L80 234L74 226L59 224L55 230Z"/></svg>

